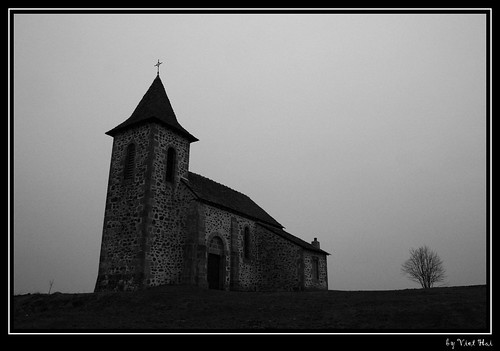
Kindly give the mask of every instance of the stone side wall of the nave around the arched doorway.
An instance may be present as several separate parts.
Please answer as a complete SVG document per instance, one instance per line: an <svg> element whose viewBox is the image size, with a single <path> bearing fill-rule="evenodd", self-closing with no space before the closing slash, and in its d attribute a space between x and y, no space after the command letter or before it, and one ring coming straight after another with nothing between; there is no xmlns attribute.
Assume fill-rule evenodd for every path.
<svg viewBox="0 0 500 351"><path fill-rule="evenodd" d="M203 250L214 237L224 246L224 289L315 290L327 289L326 256L303 249L266 230L255 221L208 204L198 204L197 215L203 221ZM244 257L243 233L250 234L250 255ZM200 234L196 234L200 235ZM198 246L201 247L201 246ZM198 250L199 251L199 250ZM200 253L198 253L200 255ZM318 260L318 279L313 276L313 259ZM199 260L199 280L205 279L206 253Z"/></svg>

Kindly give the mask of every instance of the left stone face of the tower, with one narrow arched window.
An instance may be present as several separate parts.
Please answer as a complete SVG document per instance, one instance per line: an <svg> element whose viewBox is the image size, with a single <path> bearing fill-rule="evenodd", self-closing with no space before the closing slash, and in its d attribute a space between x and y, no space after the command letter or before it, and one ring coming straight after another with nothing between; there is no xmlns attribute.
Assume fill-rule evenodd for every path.
<svg viewBox="0 0 500 351"><path fill-rule="evenodd" d="M144 125L113 140L96 290L133 290L143 279L145 189L151 128ZM134 172L123 179L127 146L135 143Z"/></svg>

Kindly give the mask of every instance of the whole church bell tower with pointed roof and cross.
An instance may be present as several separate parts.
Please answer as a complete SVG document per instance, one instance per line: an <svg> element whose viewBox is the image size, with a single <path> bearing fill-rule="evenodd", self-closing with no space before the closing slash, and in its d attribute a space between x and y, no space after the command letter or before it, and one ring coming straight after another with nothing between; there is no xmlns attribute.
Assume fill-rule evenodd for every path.
<svg viewBox="0 0 500 351"><path fill-rule="evenodd" d="M160 64L132 115L106 133L113 148L95 291L182 279L180 180L188 177L190 144L198 139L177 121Z"/></svg>

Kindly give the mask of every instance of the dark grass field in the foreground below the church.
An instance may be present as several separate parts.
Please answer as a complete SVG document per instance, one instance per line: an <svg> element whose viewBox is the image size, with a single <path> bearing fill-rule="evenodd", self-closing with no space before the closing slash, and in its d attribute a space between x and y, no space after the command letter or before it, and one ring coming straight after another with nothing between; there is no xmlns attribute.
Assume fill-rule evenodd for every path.
<svg viewBox="0 0 500 351"><path fill-rule="evenodd" d="M486 286L392 291L230 292L164 286L133 293L11 299L11 332L489 331Z"/></svg>

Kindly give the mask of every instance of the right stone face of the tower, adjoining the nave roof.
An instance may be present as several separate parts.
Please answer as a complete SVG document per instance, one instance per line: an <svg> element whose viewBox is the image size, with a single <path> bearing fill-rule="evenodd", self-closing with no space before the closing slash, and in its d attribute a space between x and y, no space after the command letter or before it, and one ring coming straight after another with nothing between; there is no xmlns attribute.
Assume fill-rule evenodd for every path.
<svg viewBox="0 0 500 351"><path fill-rule="evenodd" d="M154 125L153 167L149 197L146 285L179 284L184 268L187 216L191 192L180 184L189 168L189 142L160 125ZM167 152L175 150L176 166L172 182L166 180Z"/></svg>

